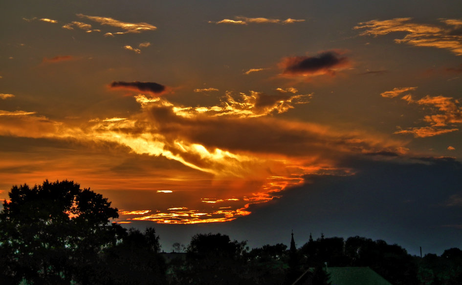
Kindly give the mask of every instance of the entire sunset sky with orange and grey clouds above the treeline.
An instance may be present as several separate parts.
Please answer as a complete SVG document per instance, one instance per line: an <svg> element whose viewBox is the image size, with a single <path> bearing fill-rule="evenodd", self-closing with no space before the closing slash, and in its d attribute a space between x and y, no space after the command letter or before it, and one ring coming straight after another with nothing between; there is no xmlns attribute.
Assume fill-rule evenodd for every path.
<svg viewBox="0 0 462 285"><path fill-rule="evenodd" d="M73 180L165 250L462 247L461 1L0 7L0 199Z"/></svg>

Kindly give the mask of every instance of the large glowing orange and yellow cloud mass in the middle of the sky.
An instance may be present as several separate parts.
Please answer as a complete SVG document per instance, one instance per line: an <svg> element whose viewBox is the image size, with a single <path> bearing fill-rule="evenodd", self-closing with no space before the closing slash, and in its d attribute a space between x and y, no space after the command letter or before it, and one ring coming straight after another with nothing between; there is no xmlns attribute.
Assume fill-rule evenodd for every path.
<svg viewBox="0 0 462 285"><path fill-rule="evenodd" d="M276 92L278 95L268 97L251 91L251 95L241 94L240 99L234 99L227 93L224 101L218 105L195 108L177 105L165 98L135 93L134 99L141 109L127 118L92 118L83 125L71 126L27 113L11 117L15 120L2 121L0 132L58 141L70 140L81 145L91 144L96 148L108 147L109 143L110 149L116 152L122 147L132 155L147 156L147 161L162 157L183 165L182 174L177 167L165 169L161 171L160 177L155 177L154 183L149 182L152 181L150 177L138 177L157 188L154 190L153 186L146 185L140 188L145 189L142 191L150 191L151 188L162 196L156 196L155 203L145 204L144 209L124 207L126 210L120 212L117 220L120 223L152 221L196 224L232 221L249 215L251 204L279 198L287 188L302 185L307 174L343 172L348 175L348 169L335 165L334 157L395 151L401 144L399 141L382 140L357 131L276 119L269 115L287 112L296 104L307 103L304 98L309 98L297 94L295 88L278 88ZM42 126L41 131L28 129L25 124L27 122L34 122L34 129ZM246 140L233 142L239 137L238 134L245 134ZM291 149L278 150L283 144L290 146L286 138L294 134L299 137L294 143L306 143L302 147L306 149L296 153L292 153ZM322 141L319 141L321 134ZM277 136L276 139L274 136ZM227 139L221 140L220 137ZM254 142L264 143L246 145ZM85 172L83 169L82 175ZM167 175L169 172L172 173ZM66 177L65 173L63 169L56 169L42 175ZM82 175L74 173L73 177L80 180ZM84 182L99 189L110 189L110 185L102 184L104 180L101 177L94 178L98 182L91 182L89 179L92 176L94 174L86 177ZM200 176L203 178L194 183ZM130 193L130 180L125 177L111 179L113 182L124 182L125 186L119 184L119 187L127 187ZM132 181L136 179L133 177ZM139 185L140 181L133 184ZM116 202L120 203L118 200ZM151 208L146 209L146 206Z"/></svg>

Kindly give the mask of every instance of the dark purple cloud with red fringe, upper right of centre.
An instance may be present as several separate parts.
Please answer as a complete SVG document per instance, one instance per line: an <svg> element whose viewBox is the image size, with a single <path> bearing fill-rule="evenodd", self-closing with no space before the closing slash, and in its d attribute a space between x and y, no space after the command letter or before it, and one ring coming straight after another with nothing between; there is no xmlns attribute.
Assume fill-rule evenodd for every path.
<svg viewBox="0 0 462 285"><path fill-rule="evenodd" d="M350 66L350 61L340 52L331 50L314 57L287 57L280 66L284 68L284 75L333 75L335 70Z"/></svg>

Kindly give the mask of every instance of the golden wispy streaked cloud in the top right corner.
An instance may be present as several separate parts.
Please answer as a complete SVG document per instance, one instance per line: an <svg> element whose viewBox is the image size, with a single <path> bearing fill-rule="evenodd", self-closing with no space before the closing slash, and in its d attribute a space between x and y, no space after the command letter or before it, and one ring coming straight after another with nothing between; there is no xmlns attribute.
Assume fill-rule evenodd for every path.
<svg viewBox="0 0 462 285"><path fill-rule="evenodd" d="M354 29L365 29L360 34L361 36L381 36L405 32L406 36L402 39L395 39L396 43L442 48L458 56L462 55L462 34L460 33L462 20L440 20L445 25L419 24L411 20L412 18L371 20L359 23Z"/></svg>

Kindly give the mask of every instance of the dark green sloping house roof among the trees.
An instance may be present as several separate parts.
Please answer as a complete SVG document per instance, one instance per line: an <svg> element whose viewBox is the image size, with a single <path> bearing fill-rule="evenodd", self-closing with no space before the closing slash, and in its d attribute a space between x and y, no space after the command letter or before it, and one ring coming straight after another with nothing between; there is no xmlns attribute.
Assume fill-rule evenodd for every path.
<svg viewBox="0 0 462 285"><path fill-rule="evenodd" d="M328 267L332 285L392 285L369 267Z"/></svg>

